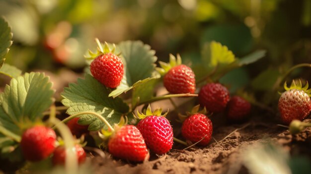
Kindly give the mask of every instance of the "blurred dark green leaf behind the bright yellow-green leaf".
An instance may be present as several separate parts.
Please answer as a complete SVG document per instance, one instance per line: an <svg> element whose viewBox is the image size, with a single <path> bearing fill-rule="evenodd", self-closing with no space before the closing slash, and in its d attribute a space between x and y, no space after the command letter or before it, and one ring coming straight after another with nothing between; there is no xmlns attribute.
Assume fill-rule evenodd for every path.
<svg viewBox="0 0 311 174"><path fill-rule="evenodd" d="M245 55L253 47L253 38L250 30L243 24L220 24L208 27L202 37L201 44L216 41L226 45L234 55Z"/></svg>

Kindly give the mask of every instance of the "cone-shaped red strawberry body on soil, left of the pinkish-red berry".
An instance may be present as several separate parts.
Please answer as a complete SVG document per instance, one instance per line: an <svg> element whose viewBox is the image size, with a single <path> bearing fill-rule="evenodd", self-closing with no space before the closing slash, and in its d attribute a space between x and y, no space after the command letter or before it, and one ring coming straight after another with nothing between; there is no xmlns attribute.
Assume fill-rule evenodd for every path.
<svg viewBox="0 0 311 174"><path fill-rule="evenodd" d="M134 125L122 126L108 141L108 150L116 158L141 162L149 158L141 132Z"/></svg>

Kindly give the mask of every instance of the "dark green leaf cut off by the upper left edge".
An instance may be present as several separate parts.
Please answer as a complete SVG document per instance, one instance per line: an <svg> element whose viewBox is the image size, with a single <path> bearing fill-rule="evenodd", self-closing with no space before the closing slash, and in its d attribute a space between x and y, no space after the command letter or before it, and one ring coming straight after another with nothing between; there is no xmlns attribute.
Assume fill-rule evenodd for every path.
<svg viewBox="0 0 311 174"><path fill-rule="evenodd" d="M12 33L11 28L3 17L0 17L0 67L4 62L4 57L8 53L10 46L12 45Z"/></svg>

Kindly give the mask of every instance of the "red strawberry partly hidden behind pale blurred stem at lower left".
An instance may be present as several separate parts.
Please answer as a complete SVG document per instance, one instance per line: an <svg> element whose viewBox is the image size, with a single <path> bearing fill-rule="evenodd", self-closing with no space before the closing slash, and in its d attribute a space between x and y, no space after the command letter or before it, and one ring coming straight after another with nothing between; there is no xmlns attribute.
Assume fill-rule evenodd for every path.
<svg viewBox="0 0 311 174"><path fill-rule="evenodd" d="M75 151L77 152L77 158L78 158L78 163L82 164L85 161L86 154L84 149L81 147L81 145L76 144L75 146ZM56 165L65 165L65 157L66 157L66 148L65 146L58 146L54 153L53 153L53 158L52 158L52 163L54 166Z"/></svg>

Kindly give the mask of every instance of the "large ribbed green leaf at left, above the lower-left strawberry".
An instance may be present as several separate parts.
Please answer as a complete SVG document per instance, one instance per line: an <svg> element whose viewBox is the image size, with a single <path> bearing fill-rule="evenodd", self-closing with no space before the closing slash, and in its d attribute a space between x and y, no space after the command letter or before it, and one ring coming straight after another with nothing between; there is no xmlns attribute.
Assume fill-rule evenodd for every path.
<svg viewBox="0 0 311 174"><path fill-rule="evenodd" d="M31 72L12 78L0 94L0 133L19 141L23 124L42 118L53 103L49 77Z"/></svg>

